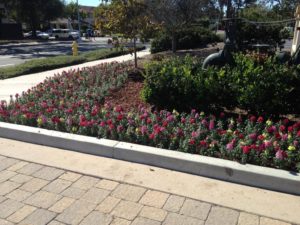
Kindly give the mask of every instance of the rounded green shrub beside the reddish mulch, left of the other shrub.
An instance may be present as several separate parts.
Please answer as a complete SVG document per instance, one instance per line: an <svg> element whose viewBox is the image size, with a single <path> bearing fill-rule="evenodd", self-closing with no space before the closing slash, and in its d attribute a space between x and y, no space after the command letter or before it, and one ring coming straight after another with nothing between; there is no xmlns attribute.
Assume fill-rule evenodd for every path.
<svg viewBox="0 0 300 225"><path fill-rule="evenodd" d="M191 57L172 58L148 64L142 98L161 109L189 111L214 110L232 105L226 79ZM225 99L226 98L226 99Z"/></svg>

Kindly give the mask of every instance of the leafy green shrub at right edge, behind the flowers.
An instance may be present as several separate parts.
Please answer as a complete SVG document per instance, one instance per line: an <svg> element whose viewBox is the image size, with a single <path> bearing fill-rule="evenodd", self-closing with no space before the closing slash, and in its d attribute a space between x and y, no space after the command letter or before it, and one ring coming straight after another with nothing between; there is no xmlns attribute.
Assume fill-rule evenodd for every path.
<svg viewBox="0 0 300 225"><path fill-rule="evenodd" d="M274 58L258 62L238 54L236 65L226 68L237 106L266 114L300 111L300 67L276 63Z"/></svg>

